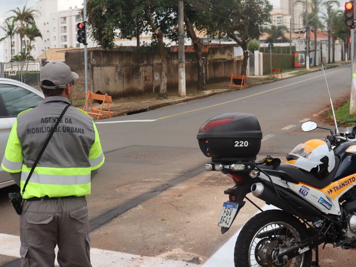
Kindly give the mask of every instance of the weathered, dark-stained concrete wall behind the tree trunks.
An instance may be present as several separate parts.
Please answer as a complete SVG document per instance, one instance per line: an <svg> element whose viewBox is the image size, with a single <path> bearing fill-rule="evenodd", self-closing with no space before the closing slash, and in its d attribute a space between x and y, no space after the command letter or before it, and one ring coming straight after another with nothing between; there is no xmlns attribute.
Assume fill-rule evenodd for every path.
<svg viewBox="0 0 356 267"><path fill-rule="evenodd" d="M242 60L234 57L234 47L211 48L203 53L208 80L229 79L230 74L240 74ZM84 51L67 51L66 63L78 73L74 98L85 98ZM161 81L161 56L159 52L124 52L92 49L88 51L88 88L92 92L112 97L126 97L159 90ZM195 89L198 81L195 54L185 53L185 79L187 89ZM167 90L178 91L178 53L169 52Z"/></svg>

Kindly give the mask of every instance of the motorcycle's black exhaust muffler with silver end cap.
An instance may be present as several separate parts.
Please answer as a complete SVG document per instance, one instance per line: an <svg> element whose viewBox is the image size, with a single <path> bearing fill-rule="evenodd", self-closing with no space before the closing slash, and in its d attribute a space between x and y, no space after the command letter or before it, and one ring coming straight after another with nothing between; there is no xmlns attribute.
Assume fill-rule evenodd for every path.
<svg viewBox="0 0 356 267"><path fill-rule="evenodd" d="M266 182L268 183L268 182ZM263 183L255 183L251 186L252 195L256 198L259 198L265 201L267 204L271 204L276 206L279 209L287 211L292 215L293 211L284 204L288 203L293 209L297 210L299 214L306 218L311 218L311 216L318 216L320 215L320 211L310 205L307 201L300 199L298 196L290 193L288 190L284 188L276 188L278 190L279 196L282 198L282 201L279 200L276 192L266 184Z"/></svg>

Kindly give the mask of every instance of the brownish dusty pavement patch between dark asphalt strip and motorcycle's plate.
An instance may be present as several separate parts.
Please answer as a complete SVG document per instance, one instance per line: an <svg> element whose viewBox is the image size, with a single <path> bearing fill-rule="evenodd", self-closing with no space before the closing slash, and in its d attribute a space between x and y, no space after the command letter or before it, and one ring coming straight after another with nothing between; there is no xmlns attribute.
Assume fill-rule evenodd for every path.
<svg viewBox="0 0 356 267"><path fill-rule="evenodd" d="M232 186L234 182L222 173L202 172L94 230L92 245L135 255L203 263L257 212L247 202L231 229L221 234L216 224L223 202L228 200L224 190Z"/></svg>

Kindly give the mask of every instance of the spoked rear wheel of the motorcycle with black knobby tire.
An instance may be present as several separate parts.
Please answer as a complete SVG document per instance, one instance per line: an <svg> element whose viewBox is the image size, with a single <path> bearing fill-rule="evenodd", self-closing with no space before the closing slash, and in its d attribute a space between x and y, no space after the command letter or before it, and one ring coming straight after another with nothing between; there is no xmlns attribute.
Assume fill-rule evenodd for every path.
<svg viewBox="0 0 356 267"><path fill-rule="evenodd" d="M261 237L261 234L271 230L273 232L272 237L257 237L258 235ZM278 239L289 237L301 241L308 237L308 232L305 225L297 218L282 210L267 210L256 214L242 227L237 237L234 251L235 267L311 266L312 250L289 260L284 265L275 265L270 255L274 250L278 249L276 237Z"/></svg>

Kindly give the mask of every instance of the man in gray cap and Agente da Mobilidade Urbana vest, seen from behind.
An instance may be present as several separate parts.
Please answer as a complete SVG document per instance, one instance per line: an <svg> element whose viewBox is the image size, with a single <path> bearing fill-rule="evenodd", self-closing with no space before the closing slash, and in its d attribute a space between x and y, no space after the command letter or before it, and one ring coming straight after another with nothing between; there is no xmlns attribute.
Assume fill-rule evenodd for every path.
<svg viewBox="0 0 356 267"><path fill-rule="evenodd" d="M21 190L56 119L70 105L77 78L63 62L47 63L40 72L45 99L17 116L1 167L11 173ZM56 245L61 267L91 266L85 195L90 194L91 179L103 163L93 120L70 106L22 196L21 266L53 266Z"/></svg>

